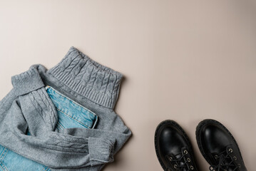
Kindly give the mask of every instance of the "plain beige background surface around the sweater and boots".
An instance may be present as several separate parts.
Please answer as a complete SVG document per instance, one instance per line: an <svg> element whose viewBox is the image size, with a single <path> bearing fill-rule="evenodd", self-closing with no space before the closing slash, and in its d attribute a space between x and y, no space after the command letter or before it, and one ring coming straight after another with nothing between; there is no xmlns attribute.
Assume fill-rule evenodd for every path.
<svg viewBox="0 0 256 171"><path fill-rule="evenodd" d="M11 76L51 68L75 46L126 76L116 112L133 131L105 171L162 170L155 128L176 120L195 142L205 118L227 126L248 170L256 159L256 1L2 1L0 98Z"/></svg>

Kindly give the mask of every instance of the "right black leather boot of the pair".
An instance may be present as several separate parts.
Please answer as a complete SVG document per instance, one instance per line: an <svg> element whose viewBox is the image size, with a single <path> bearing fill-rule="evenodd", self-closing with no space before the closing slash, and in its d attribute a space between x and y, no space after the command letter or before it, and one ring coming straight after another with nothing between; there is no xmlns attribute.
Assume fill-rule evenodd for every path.
<svg viewBox="0 0 256 171"><path fill-rule="evenodd" d="M210 170L246 171L242 155L230 131L216 120L203 120L196 130L198 147Z"/></svg>

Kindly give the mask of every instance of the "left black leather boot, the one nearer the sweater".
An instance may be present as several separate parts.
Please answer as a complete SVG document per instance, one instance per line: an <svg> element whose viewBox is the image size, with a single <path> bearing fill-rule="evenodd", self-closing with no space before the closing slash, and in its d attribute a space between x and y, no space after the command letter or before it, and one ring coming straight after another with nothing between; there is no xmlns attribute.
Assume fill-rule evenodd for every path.
<svg viewBox="0 0 256 171"><path fill-rule="evenodd" d="M190 140L173 120L165 120L156 128L155 152L165 171L197 171Z"/></svg>

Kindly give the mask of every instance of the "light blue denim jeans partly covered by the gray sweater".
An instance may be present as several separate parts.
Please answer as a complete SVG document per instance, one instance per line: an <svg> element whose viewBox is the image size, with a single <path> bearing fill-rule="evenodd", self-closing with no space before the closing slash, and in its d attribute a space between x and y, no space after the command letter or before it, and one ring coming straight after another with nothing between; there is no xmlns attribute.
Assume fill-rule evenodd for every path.
<svg viewBox="0 0 256 171"><path fill-rule="evenodd" d="M98 121L98 116L91 110L84 108L70 98L62 95L50 86L46 92L51 98L58 113L58 123L55 131L65 128L93 129ZM27 135L30 135L29 130ZM0 170L1 171L49 171L50 169L38 162L29 160L0 145Z"/></svg>

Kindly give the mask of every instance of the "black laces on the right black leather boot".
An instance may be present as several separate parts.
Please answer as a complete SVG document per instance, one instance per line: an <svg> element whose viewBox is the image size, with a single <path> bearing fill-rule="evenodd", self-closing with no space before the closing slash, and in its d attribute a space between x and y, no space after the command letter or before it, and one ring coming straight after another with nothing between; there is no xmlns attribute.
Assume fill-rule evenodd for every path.
<svg viewBox="0 0 256 171"><path fill-rule="evenodd" d="M215 159L217 160L218 164L211 165L209 167L210 171L220 171L220 170L227 171L230 167L234 167L232 170L237 171L238 168L241 167L241 165L240 164L238 164L238 166L235 165L235 160L237 160L237 157L230 156L232 152L233 150L232 148L230 148L228 152L225 150L215 155Z"/></svg>

